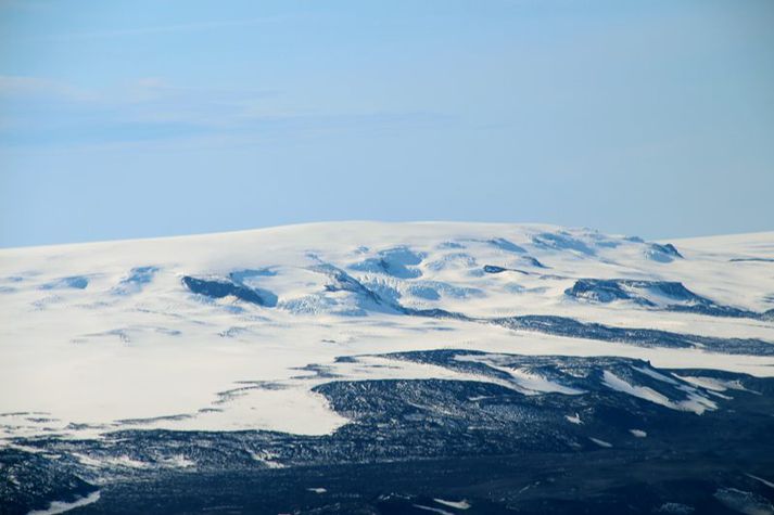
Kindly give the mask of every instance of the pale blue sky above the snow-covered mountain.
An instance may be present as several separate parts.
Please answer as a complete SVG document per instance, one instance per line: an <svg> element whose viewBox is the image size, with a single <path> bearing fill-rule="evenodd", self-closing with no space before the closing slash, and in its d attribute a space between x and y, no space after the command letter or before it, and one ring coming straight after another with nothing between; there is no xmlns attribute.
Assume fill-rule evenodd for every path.
<svg viewBox="0 0 774 515"><path fill-rule="evenodd" d="M774 230L770 0L0 0L0 247Z"/></svg>

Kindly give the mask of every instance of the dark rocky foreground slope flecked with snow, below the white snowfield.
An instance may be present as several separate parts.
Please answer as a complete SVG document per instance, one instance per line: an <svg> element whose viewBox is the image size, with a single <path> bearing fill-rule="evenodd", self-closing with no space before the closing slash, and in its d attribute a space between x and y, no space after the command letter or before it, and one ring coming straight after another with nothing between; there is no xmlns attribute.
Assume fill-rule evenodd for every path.
<svg viewBox="0 0 774 515"><path fill-rule="evenodd" d="M0 450L0 513L98 490L99 500L73 513L770 513L774 489L760 479L774 479L773 379L623 358L384 358L480 381L332 377L316 391L351 423L319 437L125 430L18 439ZM330 377L323 366L310 370ZM560 391L542 382L531 390L513 370Z"/></svg>

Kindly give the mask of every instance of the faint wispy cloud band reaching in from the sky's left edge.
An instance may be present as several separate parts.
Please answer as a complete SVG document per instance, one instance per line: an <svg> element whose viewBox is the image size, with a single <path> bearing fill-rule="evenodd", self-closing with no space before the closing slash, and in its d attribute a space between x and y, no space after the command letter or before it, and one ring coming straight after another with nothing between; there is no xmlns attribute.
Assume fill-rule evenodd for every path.
<svg viewBox="0 0 774 515"><path fill-rule="evenodd" d="M281 96L274 90L178 87L154 77L92 91L34 77L0 76L0 149L277 138L449 121L423 112L299 110L277 102Z"/></svg>

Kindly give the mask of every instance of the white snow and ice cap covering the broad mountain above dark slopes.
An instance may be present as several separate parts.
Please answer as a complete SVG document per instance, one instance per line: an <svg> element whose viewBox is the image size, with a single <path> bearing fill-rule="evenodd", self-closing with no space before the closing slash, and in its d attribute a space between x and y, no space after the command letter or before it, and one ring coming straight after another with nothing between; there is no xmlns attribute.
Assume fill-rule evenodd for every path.
<svg viewBox="0 0 774 515"><path fill-rule="evenodd" d="M495 381L370 356L407 350L620 356L774 376L774 353L488 323L549 314L774 345L774 232L667 243L541 224L341 222L1 249L0 441L119 428L327 434L347 421L312 391L326 381L314 365L350 379ZM578 280L626 281L567 293ZM421 311L431 309L444 311ZM517 389L578 394L509 373ZM695 401L678 408L712 407Z"/></svg>

